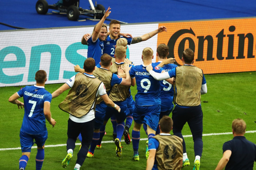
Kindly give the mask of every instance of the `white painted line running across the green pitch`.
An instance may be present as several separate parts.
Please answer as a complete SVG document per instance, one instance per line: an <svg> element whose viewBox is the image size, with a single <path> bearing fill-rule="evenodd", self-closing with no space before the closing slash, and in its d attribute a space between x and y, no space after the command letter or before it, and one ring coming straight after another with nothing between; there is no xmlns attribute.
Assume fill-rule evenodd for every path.
<svg viewBox="0 0 256 170"><path fill-rule="evenodd" d="M249 131L246 131L246 133L256 133L256 130L249 130ZM232 135L232 132L203 134L203 136L215 136L215 135ZM183 135L183 137L192 137L192 135ZM147 138L141 138L140 141L147 141ZM101 143L113 143L113 142L114 141L102 141ZM125 140L121 140L121 142L125 142ZM66 145L67 144L45 145L45 147L58 147L58 146L66 146ZM80 143L76 143L75 145L80 145ZM37 146L32 146L32 149L33 148L37 148ZM7 150L21 150L21 147L0 148L0 151L7 151Z"/></svg>

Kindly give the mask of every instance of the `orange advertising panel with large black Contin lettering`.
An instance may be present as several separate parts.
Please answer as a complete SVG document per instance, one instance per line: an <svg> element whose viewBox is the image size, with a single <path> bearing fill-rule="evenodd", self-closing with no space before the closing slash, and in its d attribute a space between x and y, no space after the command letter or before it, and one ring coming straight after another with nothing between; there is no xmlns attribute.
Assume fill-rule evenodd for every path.
<svg viewBox="0 0 256 170"><path fill-rule="evenodd" d="M169 46L169 57L182 63L186 48L204 74L256 71L256 18L164 23L158 44Z"/></svg>

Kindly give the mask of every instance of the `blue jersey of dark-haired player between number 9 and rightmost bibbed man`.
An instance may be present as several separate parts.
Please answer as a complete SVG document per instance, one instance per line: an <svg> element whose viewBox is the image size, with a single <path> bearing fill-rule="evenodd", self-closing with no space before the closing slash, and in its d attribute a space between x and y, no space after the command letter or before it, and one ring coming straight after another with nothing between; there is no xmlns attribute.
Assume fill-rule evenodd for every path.
<svg viewBox="0 0 256 170"><path fill-rule="evenodd" d="M160 62L156 62L156 65L159 65ZM178 67L176 64L167 64L162 68L168 72L169 70ZM160 83L161 88L161 112L170 110L174 107L173 104L173 85L168 83L166 80L162 80Z"/></svg>

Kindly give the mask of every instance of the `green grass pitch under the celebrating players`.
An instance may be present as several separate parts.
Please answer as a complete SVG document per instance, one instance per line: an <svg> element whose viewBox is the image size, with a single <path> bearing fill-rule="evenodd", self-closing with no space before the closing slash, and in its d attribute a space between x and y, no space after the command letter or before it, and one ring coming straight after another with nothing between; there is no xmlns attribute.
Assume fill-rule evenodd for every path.
<svg viewBox="0 0 256 170"><path fill-rule="evenodd" d="M224 142L233 138L232 134L219 134L231 132L231 123L233 119L242 118L247 123L247 131L256 130L256 72L229 73L229 74L213 74L205 75L207 81L208 93L201 96L203 110L203 134L211 134L203 136L203 153L201 157L201 170L215 169L218 161L222 157L222 145ZM50 93L54 92L62 84L47 84L46 90ZM18 169L18 161L21 156L21 150L6 150L6 148L17 148L19 144L19 129L23 119L23 109L18 109L17 105L8 102L9 96L17 92L19 87L0 87L0 110L1 110L1 137L0 137L0 169ZM137 92L136 87L131 87L132 95ZM48 139L45 148L45 160L43 162L43 170L63 169L61 162L66 156L66 146L55 146L65 144L67 140L67 120L69 115L58 108L58 104L62 102L67 94L64 92L51 102L52 117L57 121L56 126L52 128L47 122ZM19 99L22 101L23 99ZM171 116L171 115L170 115ZM133 127L133 125L131 126ZM130 128L130 132L132 128ZM112 140L112 124L107 123L106 135L103 138L105 143L102 144L101 150L95 150L94 158L87 158L83 163L81 170L93 169L145 169L145 140L139 143L140 160L134 162L133 146L123 146L123 154L120 158L115 155L115 145ZM172 133L172 132L171 132ZM215 135L214 135L215 134ZM131 134L130 134L131 135ZM191 135L190 129L186 124L183 129L183 135ZM256 143L254 133L246 133L248 140ZM141 130L141 139L146 138L145 131ZM122 138L123 139L123 138ZM194 151L192 137L185 137L187 154L190 159L190 167L183 170L193 168ZM107 142L109 141L109 142ZM79 144L79 141L77 141ZM35 146L35 145L34 145ZM79 145L74 150L74 156L67 170L74 168L75 160ZM30 160L28 161L26 170L35 169L35 155L37 149L31 150ZM256 170L256 163L254 164Z"/></svg>

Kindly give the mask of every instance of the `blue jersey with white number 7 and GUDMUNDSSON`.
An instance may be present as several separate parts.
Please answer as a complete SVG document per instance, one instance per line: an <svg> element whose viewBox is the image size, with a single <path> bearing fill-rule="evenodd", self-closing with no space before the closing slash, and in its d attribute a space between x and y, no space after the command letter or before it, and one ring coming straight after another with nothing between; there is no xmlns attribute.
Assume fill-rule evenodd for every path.
<svg viewBox="0 0 256 170"><path fill-rule="evenodd" d="M25 86L17 93L24 100L25 113L21 130L32 135L47 131L43 107L45 102L51 102L51 93L43 86L36 85Z"/></svg>

